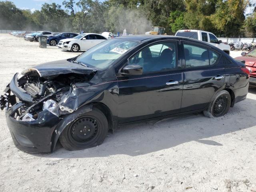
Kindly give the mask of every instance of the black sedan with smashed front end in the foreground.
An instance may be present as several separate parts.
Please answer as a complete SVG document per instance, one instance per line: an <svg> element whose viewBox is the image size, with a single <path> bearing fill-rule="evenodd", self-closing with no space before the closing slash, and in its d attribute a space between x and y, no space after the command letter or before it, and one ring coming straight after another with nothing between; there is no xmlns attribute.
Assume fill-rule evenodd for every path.
<svg viewBox="0 0 256 192"><path fill-rule="evenodd" d="M204 112L246 98L249 71L222 50L173 36L124 36L14 75L0 98L14 144L52 152L102 144L118 125Z"/></svg>

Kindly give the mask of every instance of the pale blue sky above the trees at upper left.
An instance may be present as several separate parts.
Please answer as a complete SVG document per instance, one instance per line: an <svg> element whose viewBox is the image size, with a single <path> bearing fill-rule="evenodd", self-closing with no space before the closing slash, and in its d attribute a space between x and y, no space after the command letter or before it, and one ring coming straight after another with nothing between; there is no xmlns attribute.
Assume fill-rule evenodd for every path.
<svg viewBox="0 0 256 192"><path fill-rule="evenodd" d="M41 9L41 5L44 3L56 3L56 4L60 4L62 5L62 2L64 0L8 0L13 2L18 8L20 9L30 9L32 11L34 10L40 10ZM78 0L75 0L76 2ZM104 0L100 0L101 2L103 2ZM64 8L64 7L63 7Z"/></svg>

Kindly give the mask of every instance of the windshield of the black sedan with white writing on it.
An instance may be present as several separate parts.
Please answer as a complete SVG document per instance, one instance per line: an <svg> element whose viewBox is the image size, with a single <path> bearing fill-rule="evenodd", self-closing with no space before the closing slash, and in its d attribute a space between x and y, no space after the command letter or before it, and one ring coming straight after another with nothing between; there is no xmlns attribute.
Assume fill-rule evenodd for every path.
<svg viewBox="0 0 256 192"><path fill-rule="evenodd" d="M140 41L118 38L106 40L78 56L76 61L86 66L102 70L110 66L125 52L139 43Z"/></svg>

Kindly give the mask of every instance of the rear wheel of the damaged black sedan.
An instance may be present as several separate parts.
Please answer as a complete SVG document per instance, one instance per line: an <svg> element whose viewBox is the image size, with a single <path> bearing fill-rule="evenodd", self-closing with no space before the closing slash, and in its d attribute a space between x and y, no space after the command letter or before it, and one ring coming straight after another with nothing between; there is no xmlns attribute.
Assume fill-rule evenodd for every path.
<svg viewBox="0 0 256 192"><path fill-rule="evenodd" d="M231 96L226 90L218 92L208 108L204 110L204 116L209 118L220 117L227 114L231 105Z"/></svg>

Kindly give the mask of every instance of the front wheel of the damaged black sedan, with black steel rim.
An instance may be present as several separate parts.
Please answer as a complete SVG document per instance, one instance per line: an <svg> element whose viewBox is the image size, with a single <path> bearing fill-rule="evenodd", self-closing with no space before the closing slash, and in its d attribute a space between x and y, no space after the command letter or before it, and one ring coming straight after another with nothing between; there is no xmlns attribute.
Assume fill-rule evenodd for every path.
<svg viewBox="0 0 256 192"><path fill-rule="evenodd" d="M66 150L82 150L102 144L108 134L108 120L97 108L82 114L77 110L76 118L63 130L60 143ZM74 113L72 116L74 116Z"/></svg>

